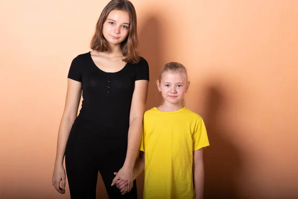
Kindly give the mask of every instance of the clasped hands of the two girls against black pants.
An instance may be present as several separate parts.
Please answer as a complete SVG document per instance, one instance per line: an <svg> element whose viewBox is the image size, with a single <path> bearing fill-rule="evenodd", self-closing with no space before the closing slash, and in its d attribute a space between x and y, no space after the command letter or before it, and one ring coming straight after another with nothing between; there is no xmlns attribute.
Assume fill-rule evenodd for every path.
<svg viewBox="0 0 298 199"><path fill-rule="evenodd" d="M115 172L115 178L113 179L112 185L120 190L121 194L127 194L133 188L133 170L130 168L122 167L118 173Z"/></svg>

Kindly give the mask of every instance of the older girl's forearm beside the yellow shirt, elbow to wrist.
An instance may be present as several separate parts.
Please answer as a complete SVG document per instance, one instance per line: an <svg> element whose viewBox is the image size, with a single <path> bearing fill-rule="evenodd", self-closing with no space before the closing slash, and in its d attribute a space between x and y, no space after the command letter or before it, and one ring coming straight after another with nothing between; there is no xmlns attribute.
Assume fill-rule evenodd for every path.
<svg viewBox="0 0 298 199"><path fill-rule="evenodd" d="M133 169L142 137L143 118L132 120L128 131L128 147L124 166Z"/></svg>

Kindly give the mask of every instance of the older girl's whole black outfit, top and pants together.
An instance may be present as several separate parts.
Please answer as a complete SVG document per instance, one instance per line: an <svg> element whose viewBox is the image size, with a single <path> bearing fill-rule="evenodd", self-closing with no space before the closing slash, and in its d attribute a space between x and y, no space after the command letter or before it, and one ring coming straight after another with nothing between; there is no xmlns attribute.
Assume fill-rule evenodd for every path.
<svg viewBox="0 0 298 199"><path fill-rule="evenodd" d="M119 72L106 73L88 52L74 58L68 78L81 82L83 96L65 154L71 198L95 199L99 171L110 199L137 199L135 181L126 195L110 185L126 157L135 81L149 81L147 61L141 58L138 64L127 63Z"/></svg>

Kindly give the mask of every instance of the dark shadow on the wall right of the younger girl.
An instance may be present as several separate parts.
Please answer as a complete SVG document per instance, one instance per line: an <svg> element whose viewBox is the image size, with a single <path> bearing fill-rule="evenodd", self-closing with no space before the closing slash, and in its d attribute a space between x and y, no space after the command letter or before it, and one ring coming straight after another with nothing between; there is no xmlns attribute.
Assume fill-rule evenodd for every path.
<svg viewBox="0 0 298 199"><path fill-rule="evenodd" d="M228 140L227 127L220 120L221 111L228 103L219 86L208 88L204 121L210 147L204 151L205 199L238 199L236 180L241 168L239 152Z"/></svg>

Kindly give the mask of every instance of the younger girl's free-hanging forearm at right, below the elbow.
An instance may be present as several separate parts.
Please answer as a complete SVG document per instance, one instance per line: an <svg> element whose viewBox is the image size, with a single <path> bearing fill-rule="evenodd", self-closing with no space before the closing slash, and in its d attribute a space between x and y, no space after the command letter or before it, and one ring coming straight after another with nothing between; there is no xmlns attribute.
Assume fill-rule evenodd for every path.
<svg viewBox="0 0 298 199"><path fill-rule="evenodd" d="M200 161L194 166L194 185L196 190L196 199L204 198L204 163Z"/></svg>

